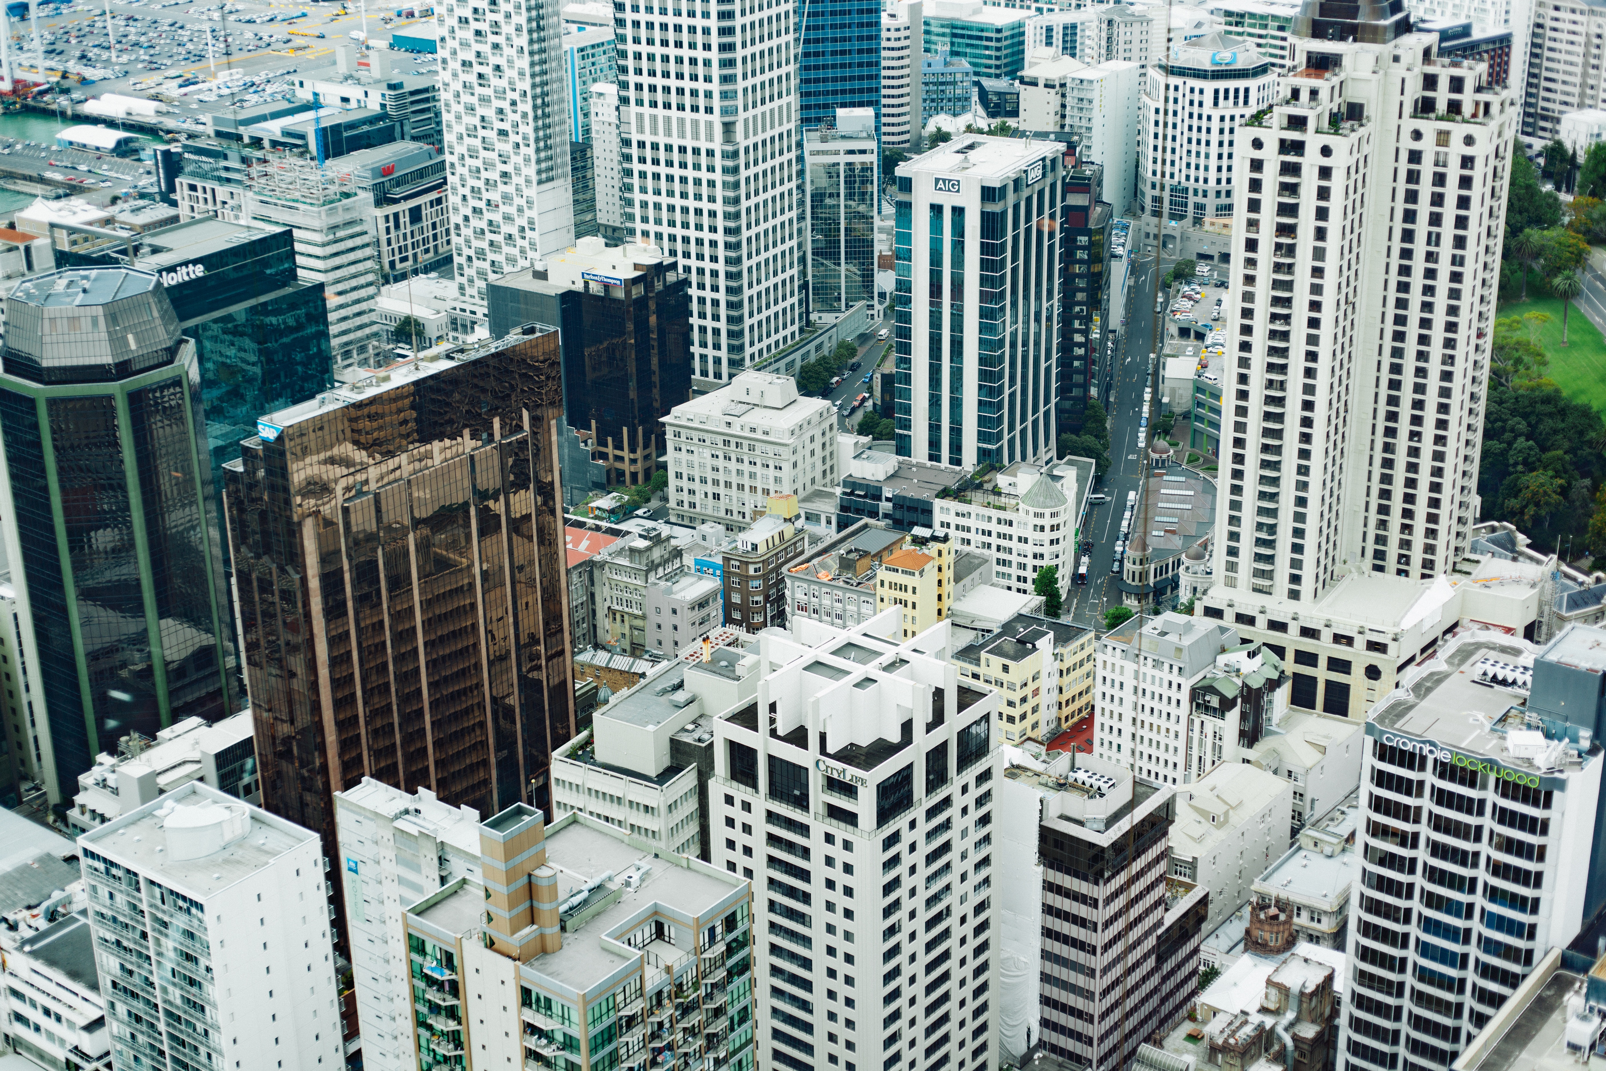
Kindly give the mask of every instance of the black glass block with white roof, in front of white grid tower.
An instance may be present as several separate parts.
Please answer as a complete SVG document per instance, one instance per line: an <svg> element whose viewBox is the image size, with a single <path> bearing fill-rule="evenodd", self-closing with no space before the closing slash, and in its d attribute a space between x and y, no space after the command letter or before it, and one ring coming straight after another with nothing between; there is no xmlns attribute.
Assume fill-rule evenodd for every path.
<svg viewBox="0 0 1606 1071"><path fill-rule="evenodd" d="M562 336L564 408L609 487L649 483L663 417L692 397L691 276L646 246L581 238L485 289L493 337L520 324Z"/></svg>

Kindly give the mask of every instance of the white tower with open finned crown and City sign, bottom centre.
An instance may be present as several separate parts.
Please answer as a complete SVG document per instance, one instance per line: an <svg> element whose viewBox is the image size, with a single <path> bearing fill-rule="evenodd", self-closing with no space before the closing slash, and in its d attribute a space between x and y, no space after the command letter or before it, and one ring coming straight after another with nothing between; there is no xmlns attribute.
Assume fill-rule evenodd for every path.
<svg viewBox="0 0 1606 1071"><path fill-rule="evenodd" d="M764 629L756 698L713 723L713 864L753 883L764 1068L997 1066L999 700L959 682L948 621L898 625Z"/></svg>

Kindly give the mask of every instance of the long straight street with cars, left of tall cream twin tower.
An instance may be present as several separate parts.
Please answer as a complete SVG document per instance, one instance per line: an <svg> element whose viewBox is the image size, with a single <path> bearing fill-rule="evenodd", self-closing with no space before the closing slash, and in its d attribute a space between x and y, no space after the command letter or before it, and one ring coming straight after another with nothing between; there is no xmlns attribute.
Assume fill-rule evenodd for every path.
<svg viewBox="0 0 1606 1071"><path fill-rule="evenodd" d="M1161 265L1169 267L1169 260ZM1134 262L1127 294L1126 328L1121 353L1115 369L1110 397L1100 398L1110 413L1110 472L1095 485L1110 501L1094 504L1087 511L1084 535L1092 538L1092 560L1087 565L1087 586L1071 586L1062 617L1076 625L1103 629L1103 612L1121 605L1110 565L1115 560L1115 544L1121 538L1121 514L1126 512L1126 495L1139 487L1139 461L1143 442L1137 422L1143 409L1143 387L1148 379L1148 355L1155 347L1155 292L1160 271L1155 254L1140 252ZM1115 316L1111 308L1111 316Z"/></svg>

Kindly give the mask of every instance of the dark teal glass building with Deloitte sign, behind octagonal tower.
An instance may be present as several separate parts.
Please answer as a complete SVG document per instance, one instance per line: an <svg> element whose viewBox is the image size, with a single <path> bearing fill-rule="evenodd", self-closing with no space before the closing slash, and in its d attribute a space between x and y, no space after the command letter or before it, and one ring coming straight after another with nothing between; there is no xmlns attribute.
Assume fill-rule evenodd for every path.
<svg viewBox="0 0 1606 1071"><path fill-rule="evenodd" d="M117 265L125 254L119 246L71 259ZM196 342L207 454L222 495L223 462L257 434L257 417L331 382L323 287L297 279L289 228L190 220L143 234L137 263L162 281L180 331Z"/></svg>

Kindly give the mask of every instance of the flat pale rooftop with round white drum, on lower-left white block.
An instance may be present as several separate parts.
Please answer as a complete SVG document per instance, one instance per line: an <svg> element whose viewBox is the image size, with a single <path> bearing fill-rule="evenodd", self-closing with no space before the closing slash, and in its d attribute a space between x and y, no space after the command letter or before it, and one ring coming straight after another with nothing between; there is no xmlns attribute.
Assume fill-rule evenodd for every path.
<svg viewBox="0 0 1606 1071"><path fill-rule="evenodd" d="M284 853L316 840L312 830L199 782L79 837L85 848L157 875L164 885L202 902L254 880ZM220 848L202 851L218 843Z"/></svg>

